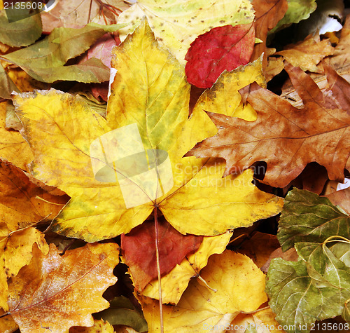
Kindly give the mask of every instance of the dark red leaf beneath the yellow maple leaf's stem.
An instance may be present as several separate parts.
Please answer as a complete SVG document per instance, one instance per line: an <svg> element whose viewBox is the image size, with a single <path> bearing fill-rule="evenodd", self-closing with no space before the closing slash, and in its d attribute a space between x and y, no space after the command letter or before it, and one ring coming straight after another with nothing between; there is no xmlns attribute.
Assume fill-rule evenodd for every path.
<svg viewBox="0 0 350 333"><path fill-rule="evenodd" d="M176 264L180 264L187 254L195 252L200 247L203 236L182 235L165 219L158 221L158 224L160 273L165 275ZM151 280L157 278L154 222L144 222L127 235L123 234L121 240L123 257L129 266L134 286L141 291Z"/></svg>

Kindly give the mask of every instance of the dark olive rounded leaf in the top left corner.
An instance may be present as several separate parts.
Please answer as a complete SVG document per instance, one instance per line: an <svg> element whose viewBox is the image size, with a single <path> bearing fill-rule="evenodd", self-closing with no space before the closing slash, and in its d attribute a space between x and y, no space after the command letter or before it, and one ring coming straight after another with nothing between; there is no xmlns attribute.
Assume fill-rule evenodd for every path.
<svg viewBox="0 0 350 333"><path fill-rule="evenodd" d="M8 46L28 46L41 36L41 16L33 15L23 20L8 22L6 11L0 11L0 42Z"/></svg>

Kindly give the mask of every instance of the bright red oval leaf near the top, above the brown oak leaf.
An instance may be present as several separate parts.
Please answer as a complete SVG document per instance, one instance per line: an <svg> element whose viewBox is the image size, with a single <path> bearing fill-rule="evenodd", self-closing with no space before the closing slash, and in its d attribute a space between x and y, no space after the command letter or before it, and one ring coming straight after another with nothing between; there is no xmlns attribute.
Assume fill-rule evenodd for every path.
<svg viewBox="0 0 350 333"><path fill-rule="evenodd" d="M188 82L210 88L225 69L232 71L249 62L254 43L252 24L225 25L198 36L185 57Z"/></svg>

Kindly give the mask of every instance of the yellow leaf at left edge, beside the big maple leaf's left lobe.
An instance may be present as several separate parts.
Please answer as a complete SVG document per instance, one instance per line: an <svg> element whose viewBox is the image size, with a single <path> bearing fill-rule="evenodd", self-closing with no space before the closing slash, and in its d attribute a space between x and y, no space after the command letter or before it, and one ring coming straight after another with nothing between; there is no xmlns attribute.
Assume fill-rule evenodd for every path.
<svg viewBox="0 0 350 333"><path fill-rule="evenodd" d="M10 102L0 103L0 156L23 170L33 160L28 143L19 132L6 130L6 109Z"/></svg>

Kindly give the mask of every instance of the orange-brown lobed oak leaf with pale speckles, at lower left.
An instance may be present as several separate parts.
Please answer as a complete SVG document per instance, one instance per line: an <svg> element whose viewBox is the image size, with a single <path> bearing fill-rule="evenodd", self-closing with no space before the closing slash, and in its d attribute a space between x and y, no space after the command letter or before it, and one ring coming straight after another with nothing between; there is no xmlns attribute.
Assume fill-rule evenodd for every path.
<svg viewBox="0 0 350 333"><path fill-rule="evenodd" d="M94 325L91 313L109 306L102 293L116 283L118 261L115 243L87 244L62 257L55 245L46 256L34 245L31 262L8 285L13 320L22 333Z"/></svg>

